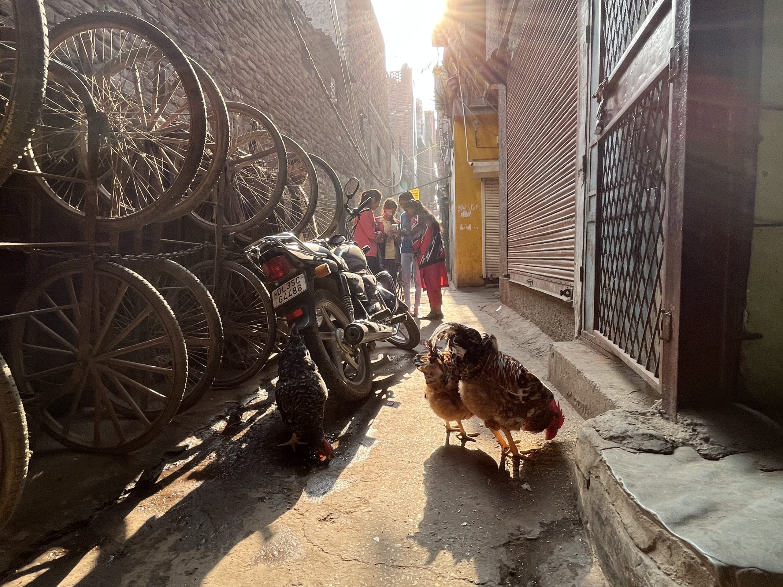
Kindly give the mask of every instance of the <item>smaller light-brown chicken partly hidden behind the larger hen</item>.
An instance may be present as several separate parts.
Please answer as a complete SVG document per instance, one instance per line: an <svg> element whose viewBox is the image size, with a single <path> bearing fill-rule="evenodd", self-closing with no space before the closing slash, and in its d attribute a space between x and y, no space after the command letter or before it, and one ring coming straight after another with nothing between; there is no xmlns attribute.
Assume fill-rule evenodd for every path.
<svg viewBox="0 0 783 587"><path fill-rule="evenodd" d="M429 347L429 345L428 345ZM418 357L418 367L424 373L424 382L427 391L424 398L430 404L433 412L446 421L446 444L449 444L449 436L452 432L459 432L457 438L462 445L467 442L475 442L478 434L467 434L462 425L462 420L473 417L460 398L460 372L450 361L450 353L441 353L437 347ZM456 428L451 423L456 421Z"/></svg>

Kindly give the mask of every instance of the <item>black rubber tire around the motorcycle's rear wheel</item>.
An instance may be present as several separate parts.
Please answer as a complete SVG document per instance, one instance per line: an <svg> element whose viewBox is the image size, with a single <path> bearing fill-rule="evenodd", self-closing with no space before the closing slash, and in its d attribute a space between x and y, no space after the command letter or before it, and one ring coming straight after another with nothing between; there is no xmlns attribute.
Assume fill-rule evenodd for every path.
<svg viewBox="0 0 783 587"><path fill-rule="evenodd" d="M337 308L343 307L340 298L328 290L316 290L316 304L321 299L329 300L332 304L335 304ZM348 318L345 314L342 318L345 319L345 323L347 324ZM370 351L366 344L361 346L361 351L363 360L366 362L367 366L367 376L359 384L348 384L343 380L340 373L337 372L329 351L323 346L323 342L321 342L321 338L318 335L318 324L311 324L303 330L302 337L305 339L305 346L307 346L310 351L312 360L316 362L316 365L321 372L321 376L329 388L330 399L337 400L338 402L361 402L370 394L370 391L373 389L373 364L370 361Z"/></svg>

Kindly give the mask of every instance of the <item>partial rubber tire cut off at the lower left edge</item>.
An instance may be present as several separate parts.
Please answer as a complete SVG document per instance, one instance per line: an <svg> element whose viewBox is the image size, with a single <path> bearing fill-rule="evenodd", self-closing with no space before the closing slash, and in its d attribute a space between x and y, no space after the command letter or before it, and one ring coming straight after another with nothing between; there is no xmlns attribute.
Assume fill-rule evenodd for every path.
<svg viewBox="0 0 783 587"><path fill-rule="evenodd" d="M11 371L0 355L0 528L13 516L27 478L27 420Z"/></svg>

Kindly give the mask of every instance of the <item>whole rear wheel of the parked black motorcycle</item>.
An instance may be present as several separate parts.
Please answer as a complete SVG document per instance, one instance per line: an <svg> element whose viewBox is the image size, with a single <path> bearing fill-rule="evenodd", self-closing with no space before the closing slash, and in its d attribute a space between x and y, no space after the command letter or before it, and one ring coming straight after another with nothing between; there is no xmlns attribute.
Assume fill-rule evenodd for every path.
<svg viewBox="0 0 783 587"><path fill-rule="evenodd" d="M351 347L342 340L348 317L336 295L316 290L315 297L317 323L303 331L305 344L329 387L330 397L358 402L373 387L370 351L366 344Z"/></svg>

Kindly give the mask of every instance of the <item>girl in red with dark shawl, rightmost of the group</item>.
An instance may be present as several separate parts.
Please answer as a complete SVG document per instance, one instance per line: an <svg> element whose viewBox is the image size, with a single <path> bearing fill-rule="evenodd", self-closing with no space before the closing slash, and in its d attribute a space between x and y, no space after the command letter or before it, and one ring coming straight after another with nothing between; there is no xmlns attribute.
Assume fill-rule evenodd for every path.
<svg viewBox="0 0 783 587"><path fill-rule="evenodd" d="M412 216L410 238L413 240L413 252L419 262L422 285L430 299L430 313L424 318L439 320L443 318L441 288L449 286L449 275L446 273L446 249L443 248L440 224L419 200L411 201L410 210Z"/></svg>

